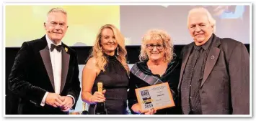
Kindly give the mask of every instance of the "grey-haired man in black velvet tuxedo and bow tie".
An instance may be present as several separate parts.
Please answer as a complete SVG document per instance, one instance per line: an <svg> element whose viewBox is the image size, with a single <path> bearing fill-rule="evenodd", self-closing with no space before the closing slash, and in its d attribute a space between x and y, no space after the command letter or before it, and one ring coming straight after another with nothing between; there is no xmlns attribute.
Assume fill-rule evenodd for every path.
<svg viewBox="0 0 256 121"><path fill-rule="evenodd" d="M9 75L9 89L20 97L18 114L68 114L79 98L76 52L61 42L66 11L50 9L44 26L44 37L22 44Z"/></svg>

